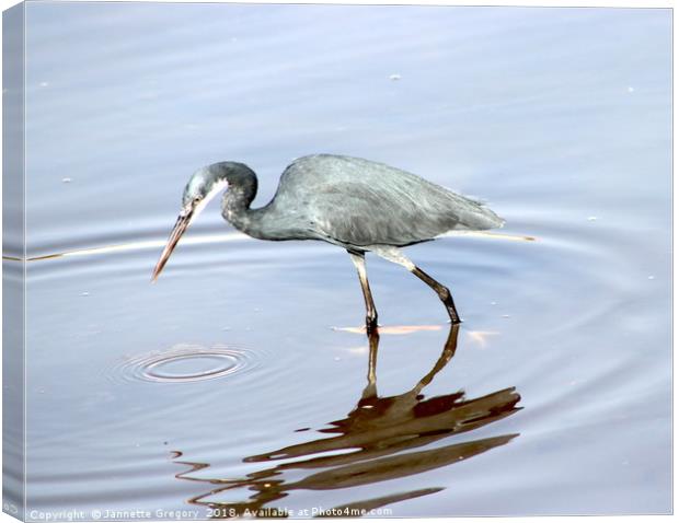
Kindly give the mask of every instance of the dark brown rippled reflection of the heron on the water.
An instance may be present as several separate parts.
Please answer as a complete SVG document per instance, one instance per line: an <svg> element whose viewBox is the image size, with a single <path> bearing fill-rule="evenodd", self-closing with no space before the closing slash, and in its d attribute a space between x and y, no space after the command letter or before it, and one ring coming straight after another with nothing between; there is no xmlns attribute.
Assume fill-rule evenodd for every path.
<svg viewBox="0 0 679 523"><path fill-rule="evenodd" d="M459 326L453 325L444 351L431 370L408 392L391 397L378 396L376 363L379 335L371 335L368 384L360 399L345 419L332 421L329 428L319 430L333 437L245 457L243 461L246 463L287 462L235 479L197 477L194 473L209 467L209 464L176 461L189 466L189 469L176 475L179 479L210 486L208 491L191 498L188 502L211 509L212 518L286 516L288 514L283 509L266 505L288 496L291 490L331 490L395 479L450 465L508 443L518 434L405 452L484 427L520 409L516 407L520 396L514 387L474 399L467 399L462 391L425 399L421 393L454 356L458 334ZM181 452L174 455L175 458L181 456ZM298 474L307 470L309 474L290 480L285 476L289 470ZM248 489L249 493L254 493L240 502L216 500L220 495L233 495L237 489ZM411 490L342 504L324 514L310 515L360 515L361 511L440 490Z"/></svg>

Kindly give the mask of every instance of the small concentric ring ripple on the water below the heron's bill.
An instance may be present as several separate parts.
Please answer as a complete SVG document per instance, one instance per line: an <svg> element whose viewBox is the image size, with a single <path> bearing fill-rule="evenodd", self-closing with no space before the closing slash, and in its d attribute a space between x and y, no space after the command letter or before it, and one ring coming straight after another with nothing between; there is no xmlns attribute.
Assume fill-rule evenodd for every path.
<svg viewBox="0 0 679 523"><path fill-rule="evenodd" d="M114 380L192 383L252 369L256 353L243 347L180 344L171 349L126 358L112 370Z"/></svg>

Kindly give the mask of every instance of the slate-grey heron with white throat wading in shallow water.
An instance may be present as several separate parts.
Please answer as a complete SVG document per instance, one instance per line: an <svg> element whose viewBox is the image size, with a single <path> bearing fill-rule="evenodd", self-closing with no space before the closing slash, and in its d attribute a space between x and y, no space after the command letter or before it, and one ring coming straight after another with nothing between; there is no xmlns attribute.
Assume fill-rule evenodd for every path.
<svg viewBox="0 0 679 523"><path fill-rule="evenodd" d="M481 231L504 224L482 202L421 176L336 154L295 160L281 174L272 200L252 209L250 205L257 194L254 171L240 162L218 162L196 171L186 184L180 216L153 269L152 281L188 225L222 190L222 217L252 237L317 240L346 249L358 272L368 333L377 329L378 313L368 282L366 253L405 267L436 292L451 324L459 324L450 290L416 266L401 248L451 231Z"/></svg>

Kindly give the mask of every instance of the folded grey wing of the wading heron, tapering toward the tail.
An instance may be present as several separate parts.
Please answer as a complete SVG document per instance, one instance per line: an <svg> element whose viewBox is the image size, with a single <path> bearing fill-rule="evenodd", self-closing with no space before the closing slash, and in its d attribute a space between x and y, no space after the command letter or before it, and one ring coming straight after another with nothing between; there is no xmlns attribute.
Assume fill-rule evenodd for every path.
<svg viewBox="0 0 679 523"><path fill-rule="evenodd" d="M451 230L502 225L493 211L419 176L347 156L314 156L290 186L306 193L314 231L348 245L410 245Z"/></svg>

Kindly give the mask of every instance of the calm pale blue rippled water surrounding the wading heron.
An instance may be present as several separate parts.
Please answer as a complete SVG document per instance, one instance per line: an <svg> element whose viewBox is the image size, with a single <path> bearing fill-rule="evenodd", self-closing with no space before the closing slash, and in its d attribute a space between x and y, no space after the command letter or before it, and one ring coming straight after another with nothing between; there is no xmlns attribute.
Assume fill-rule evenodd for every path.
<svg viewBox="0 0 679 523"><path fill-rule="evenodd" d="M99 248L28 263L28 515L667 513L670 24L28 4L28 255ZM150 284L194 170L248 163L262 205L314 152L482 197L537 241L408 249L459 332L369 258L379 342L346 330L345 253L242 237L218 205Z"/></svg>

